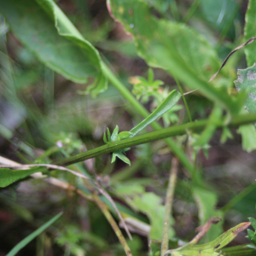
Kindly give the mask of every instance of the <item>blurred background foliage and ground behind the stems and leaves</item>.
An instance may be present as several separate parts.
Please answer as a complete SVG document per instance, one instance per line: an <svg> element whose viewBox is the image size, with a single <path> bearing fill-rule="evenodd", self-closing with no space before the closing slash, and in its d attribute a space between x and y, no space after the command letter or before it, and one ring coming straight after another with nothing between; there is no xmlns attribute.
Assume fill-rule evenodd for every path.
<svg viewBox="0 0 256 256"><path fill-rule="evenodd" d="M187 24L216 51L215 69L204 73L206 79L216 67L218 69L230 50L241 44L248 1L144 2L149 4L155 17ZM168 92L177 89L175 79L162 69L148 69L146 62L137 55L131 35L108 14L105 1L60 0L56 3L148 111L152 112ZM26 27L20 27L20 30L26 30ZM245 55L240 50L224 67L217 86L230 88L232 94L236 68L245 67ZM49 160L103 145L102 137L107 127L113 131L115 125L119 125L119 131L129 131L141 120L112 84L96 97L84 94L91 83L90 79L87 84L74 83L45 67L20 44L9 30L8 22L0 16L1 155L26 164L49 163ZM183 90L189 91L186 86ZM207 118L211 112L212 102L199 92L187 95L186 100L193 120ZM182 101L160 120L166 127L188 121ZM176 138L176 143L183 145L189 158L194 156L203 183L212 190L211 195L201 197L204 205L216 205L217 209L223 210L219 214L225 213L224 230L247 221L248 217L256 217L256 185L252 183L256 178L255 152L243 151L241 136L236 130L230 133L233 139L221 144L221 131L217 131L204 150L196 151L196 157L189 147L189 140L196 135ZM161 234L163 216L160 218L160 214L164 208L172 153L165 143L157 141L131 148L126 155L131 160L131 167L121 160L111 164L110 154L86 160L84 166L108 189L127 215L144 224L153 225L154 222L154 228L160 229L154 230L154 235L158 236ZM177 239L189 241L195 236L195 227L201 224L198 218L201 209L191 194L189 174L182 166L179 169L173 203L171 236L174 244ZM68 183L79 183L70 173L54 172L52 175ZM244 192L240 194L241 191ZM125 200L123 195L129 195L131 201ZM234 198L237 202L227 205ZM0 255L8 253L17 242L61 210L64 212L61 221L58 220L17 255L125 255L111 226L95 204L40 180L1 189ZM209 211L211 214L211 209ZM147 255L146 236L133 234L133 241L128 241L134 256ZM248 240L245 233L241 233L231 245L244 243Z"/></svg>

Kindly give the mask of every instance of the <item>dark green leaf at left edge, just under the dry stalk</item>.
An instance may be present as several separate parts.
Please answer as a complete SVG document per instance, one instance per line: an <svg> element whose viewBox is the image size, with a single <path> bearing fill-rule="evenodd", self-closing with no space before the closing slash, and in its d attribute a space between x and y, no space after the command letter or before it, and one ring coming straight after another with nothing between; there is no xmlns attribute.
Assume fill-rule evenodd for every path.
<svg viewBox="0 0 256 256"><path fill-rule="evenodd" d="M45 169L42 167L34 167L29 170L12 170L9 168L0 168L0 188L5 188L11 183L15 183L16 181L25 178L32 173L42 172L44 170Z"/></svg>

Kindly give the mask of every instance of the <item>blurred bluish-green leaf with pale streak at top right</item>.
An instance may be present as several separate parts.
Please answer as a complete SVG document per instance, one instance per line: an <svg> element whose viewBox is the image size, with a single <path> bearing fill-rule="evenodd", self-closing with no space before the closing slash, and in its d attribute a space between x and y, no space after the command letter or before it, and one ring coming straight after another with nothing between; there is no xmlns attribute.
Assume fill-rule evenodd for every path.
<svg viewBox="0 0 256 256"><path fill-rule="evenodd" d="M229 26L231 20L234 20L237 3L233 0L203 0L201 1L201 10L206 20L216 29L222 31L225 26ZM234 22L230 24L227 33L230 38L235 38Z"/></svg>

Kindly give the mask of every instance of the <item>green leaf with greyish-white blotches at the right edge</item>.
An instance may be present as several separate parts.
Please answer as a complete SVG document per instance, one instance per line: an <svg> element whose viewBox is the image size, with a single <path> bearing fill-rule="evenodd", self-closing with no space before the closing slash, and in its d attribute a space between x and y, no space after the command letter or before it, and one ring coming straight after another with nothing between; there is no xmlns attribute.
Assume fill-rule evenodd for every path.
<svg viewBox="0 0 256 256"><path fill-rule="evenodd" d="M236 90L247 94L245 107L250 113L256 113L256 66L238 69L237 80L234 82Z"/></svg>

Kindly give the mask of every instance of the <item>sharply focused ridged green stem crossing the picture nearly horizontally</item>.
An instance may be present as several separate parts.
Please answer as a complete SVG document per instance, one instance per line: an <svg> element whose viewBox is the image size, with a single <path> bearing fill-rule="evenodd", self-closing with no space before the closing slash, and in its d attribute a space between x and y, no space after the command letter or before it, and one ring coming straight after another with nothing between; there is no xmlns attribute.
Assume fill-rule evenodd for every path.
<svg viewBox="0 0 256 256"><path fill-rule="evenodd" d="M230 119L230 127L237 127L239 125L245 125L245 124L250 124L256 121L256 113L253 114L240 114L232 119ZM87 160L93 157L96 157L98 155L102 154L107 154L111 153L114 151L118 151L119 149L123 148L130 148L132 146L137 146L139 144L143 143L151 143L156 140L164 139L166 137L174 137L178 135L183 135L186 134L186 132L189 131L202 131L205 129L206 125L208 124L209 120L208 119L203 119L199 121L195 121L192 123L184 124L184 125L177 125L177 126L172 126L166 129L161 129L160 131L152 131L148 132L146 134L137 136L137 137L131 137L127 138L125 140L119 141L119 142L113 142L113 143L108 143L102 147L94 148L91 150L88 150L84 153L80 153L71 157L68 157L65 160L59 160L55 162L55 165L59 166L68 166L72 165L74 163ZM226 126L226 121L225 119L221 119L218 122L215 123L216 128L222 128ZM179 148L178 148L179 149ZM190 165L190 163L189 163ZM193 168L194 170L194 168ZM193 174L193 172L192 172Z"/></svg>

